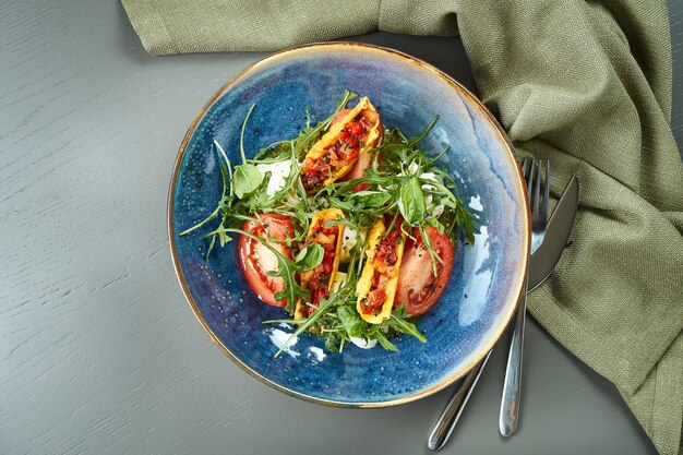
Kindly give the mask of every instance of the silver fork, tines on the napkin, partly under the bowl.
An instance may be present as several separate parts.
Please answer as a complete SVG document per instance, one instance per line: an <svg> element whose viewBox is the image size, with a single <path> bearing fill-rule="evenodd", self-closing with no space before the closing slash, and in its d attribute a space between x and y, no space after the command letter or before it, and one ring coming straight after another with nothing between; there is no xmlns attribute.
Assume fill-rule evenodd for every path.
<svg viewBox="0 0 683 455"><path fill-rule="evenodd" d="M529 168L530 166L530 168ZM550 161L546 161L546 179L541 199L541 161L525 158L522 163L522 171L527 179L527 192L529 193L529 206L531 209L531 253L540 247L546 237L548 225L548 200L550 199ZM519 398L522 394L522 348L524 345L524 326L526 318L527 277L524 280L522 299L517 307L513 322L510 354L505 369L505 382L503 397L501 399L501 415L499 429L504 436L512 435L517 429L519 419Z"/></svg>

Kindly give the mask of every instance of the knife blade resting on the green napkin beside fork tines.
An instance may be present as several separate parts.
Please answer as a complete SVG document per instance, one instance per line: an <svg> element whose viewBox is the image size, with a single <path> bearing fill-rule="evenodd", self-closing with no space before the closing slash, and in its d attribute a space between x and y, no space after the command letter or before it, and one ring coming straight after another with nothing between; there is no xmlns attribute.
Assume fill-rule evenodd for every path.
<svg viewBox="0 0 683 455"><path fill-rule="evenodd" d="M558 261L560 261L574 226L574 217L577 209L578 177L574 175L562 192L562 196L548 220L543 242L531 254L531 260L529 261L529 291L543 283L555 267Z"/></svg>

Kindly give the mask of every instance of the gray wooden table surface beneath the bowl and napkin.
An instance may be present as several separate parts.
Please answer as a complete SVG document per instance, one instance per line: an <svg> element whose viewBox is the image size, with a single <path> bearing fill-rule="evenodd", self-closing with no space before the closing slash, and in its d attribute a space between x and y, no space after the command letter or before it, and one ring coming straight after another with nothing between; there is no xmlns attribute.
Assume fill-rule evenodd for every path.
<svg viewBox="0 0 683 455"><path fill-rule="evenodd" d="M678 125L683 1L670 3ZM474 86L457 39L358 39ZM291 398L232 364L177 285L176 152L262 55L153 58L116 1L0 1L0 454L428 453L451 390L380 410ZM496 349L444 453L655 453L613 386L535 323L525 360L518 434L498 434Z"/></svg>

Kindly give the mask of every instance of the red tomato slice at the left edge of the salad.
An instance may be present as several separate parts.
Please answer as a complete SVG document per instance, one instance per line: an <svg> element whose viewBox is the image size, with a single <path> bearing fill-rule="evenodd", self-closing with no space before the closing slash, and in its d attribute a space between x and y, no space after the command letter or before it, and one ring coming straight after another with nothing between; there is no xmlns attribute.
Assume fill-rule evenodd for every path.
<svg viewBox="0 0 683 455"><path fill-rule="evenodd" d="M295 235L295 227L288 217L276 214L259 215L261 223L247 221L242 230L267 239L283 241ZM273 248L291 259L291 248L285 243L268 242ZM269 277L269 271L277 270L277 256L260 241L244 235L238 241L240 265L247 277L247 282L256 297L273 307L285 307L286 300L275 300L275 292L285 290L285 280L280 277Z"/></svg>

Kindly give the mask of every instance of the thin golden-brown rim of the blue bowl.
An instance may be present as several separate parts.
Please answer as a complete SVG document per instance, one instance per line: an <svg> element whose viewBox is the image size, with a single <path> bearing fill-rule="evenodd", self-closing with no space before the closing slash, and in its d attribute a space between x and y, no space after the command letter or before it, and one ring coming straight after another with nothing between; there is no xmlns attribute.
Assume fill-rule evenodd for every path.
<svg viewBox="0 0 683 455"><path fill-rule="evenodd" d="M296 56L298 53L301 52L305 52L307 50L317 50L317 49L323 49L323 50L327 50L331 52L334 52L335 50L352 50L352 51L360 51L360 52L385 52L386 55L388 55L390 57L393 57L395 59L398 60L403 60L404 62L407 62L409 64L414 64L417 65L419 68L421 68L422 70L431 73L434 76L441 77L444 82L446 82L448 85L451 85L451 87L453 87L456 92L459 93L460 96L463 96L464 98L466 98L471 106L474 106L475 108L477 108L477 110L483 115L483 117L486 119L489 120L490 124L494 128L494 131L498 134L498 137L500 140L500 142L504 145L504 149L506 152L506 155L508 157L508 159L511 160L511 165L513 166L513 168L516 171L516 184L518 187L518 190L522 191L522 194L524 195L523 197L523 204L525 207L524 213L522 214L522 229L523 229L523 241L525 244L523 244L523 249L526 250L526 254L523 256L522 261L522 273L518 275L516 283L514 284L514 292L512 294L513 296L516 296L516 301L514 304L510 304L506 313L503 315L503 323L500 324L500 326L498 327L498 330L494 333L494 336L490 337L490 339L488 340L488 343L483 346L483 348L480 348L479 351L477 351L474 356L474 358L470 360L470 362L467 363L467 366L465 366L463 369L460 369L460 371L456 372L455 374L451 374L447 378L443 379L442 381L440 381L439 383L427 387L427 388L422 388L420 391L417 391L415 393L411 393L407 396L400 397L400 398L395 398L395 399L390 399L390 400L385 400L385 402L345 402L345 400L334 400L334 399L325 399L325 398L319 398L315 396L311 396L311 395L307 395L304 393L301 392L297 392L295 390L288 388L283 384L278 384L275 381L269 380L268 378L265 378L264 375L262 375L261 373L259 373L257 371L253 370L251 367L249 367L248 364L245 364L244 362L242 362L242 360L237 357L235 354L232 354L232 351L230 351L230 349L225 346L223 344L223 342L218 338L218 336L211 330L211 327L208 326L208 323L206 322L206 320L204 319L204 315L202 314L202 312L200 311L199 307L196 306L192 295L190 294L190 290L187 286L184 276L182 274L182 271L180 268L180 261L178 259L178 253L176 250L176 241L175 241L175 231L173 231L173 194L176 193L176 183L178 181L178 172L180 170L180 165L182 163L182 158L184 157L185 154L185 149L187 146L190 142L190 139L192 137L192 135L194 134L195 130L196 130L196 125L199 124L199 122L202 120L202 118L204 117L204 115L208 111L208 109L214 105L214 103L226 92L228 91L228 88L230 88L230 86L232 86L235 83L237 83L238 81L240 81L241 79L243 79L244 76L247 76L250 72L259 70L260 67L266 65L271 60L275 60L277 58L283 58L283 56L286 56L288 53L291 53L292 56ZM453 384L455 381L457 381L458 379L463 378L468 371L470 371L476 364L478 364L483 358L484 356L493 348L493 346L498 343L498 340L500 339L500 337L502 336L503 332L505 331L505 327L507 327L507 325L510 324L510 321L512 319L512 315L515 313L515 310L517 309L517 306L519 304L520 301L520 296L523 292L523 288L524 288L524 280L527 274L527 270L528 270L528 265L529 265L529 255L530 255L530 244L531 244L531 226L530 226L530 208L529 208L529 202L528 202L528 194L527 194L527 189L526 189L526 184L525 184L525 180L524 180L524 176L522 173L522 168L519 167L519 163L517 160L514 147L512 142L510 141L510 139L507 137L507 135L505 134L505 131L503 130L503 128L501 127L501 124L499 123L499 121L495 119L495 117L493 117L493 115L487 109L487 107L483 105L483 103L477 98L471 92L469 92L467 88L465 88L465 86L463 86L459 82L457 82L456 80L454 80L453 77L451 77L450 75L445 74L443 71L439 70L438 68L435 68L434 65L427 63L426 61L418 59L417 57L412 57L408 53L402 52L399 50L396 49L392 49L392 48L387 48L387 47L382 47L382 46L375 46L375 45L369 45L369 44L364 44L364 43L352 43L352 41L322 41L322 43L312 43L312 44L307 44L307 45L301 45L301 46L295 46L295 47L290 47L287 49L283 49L279 50L277 52L273 52L268 56L265 56L259 60L256 60L255 62L251 63L250 65L248 65L244 70L240 71L237 75L235 75L232 79L230 79L228 82L226 82L223 86L220 86L220 88L218 88L212 96L211 98L204 104L204 106L202 107L202 109L200 110L200 112L194 117L194 119L192 120L192 123L190 124L190 127L188 128L188 131L180 144L180 148L178 151L178 155L176 156L176 161L173 164L173 171L171 173L171 181L170 181L170 185L169 185L169 191L168 191L168 203L167 203L167 230L168 230L168 237L169 237L169 247L170 247L170 253L171 253L171 258L173 261L173 271L176 273L176 277L178 278L178 283L180 284L180 288L182 290L183 296L185 297L185 300L188 302L188 304L190 306L190 308L192 309L192 312L194 313L195 318L197 319L197 321L200 322L200 324L202 325L202 328L204 328L204 331L206 332L206 334L208 335L208 337L212 339L212 342L214 342L214 344L216 346L218 346L218 348L220 348L220 350L228 357L230 358L237 366L239 366L242 370L244 370L245 372L248 372L250 375L256 378L257 380L260 380L261 382L269 385L271 387L274 387L277 391L284 392L290 396L297 397L297 398L301 398L304 399L307 402L311 402L311 403L315 403L315 404L321 404L321 405L326 405L326 406L333 406L333 407L344 407L344 408L383 408L383 407L391 407L391 406L397 406L397 405L404 405L410 402L415 402L417 399L421 399L424 398L429 395L432 395L445 387L447 387L448 385Z"/></svg>

